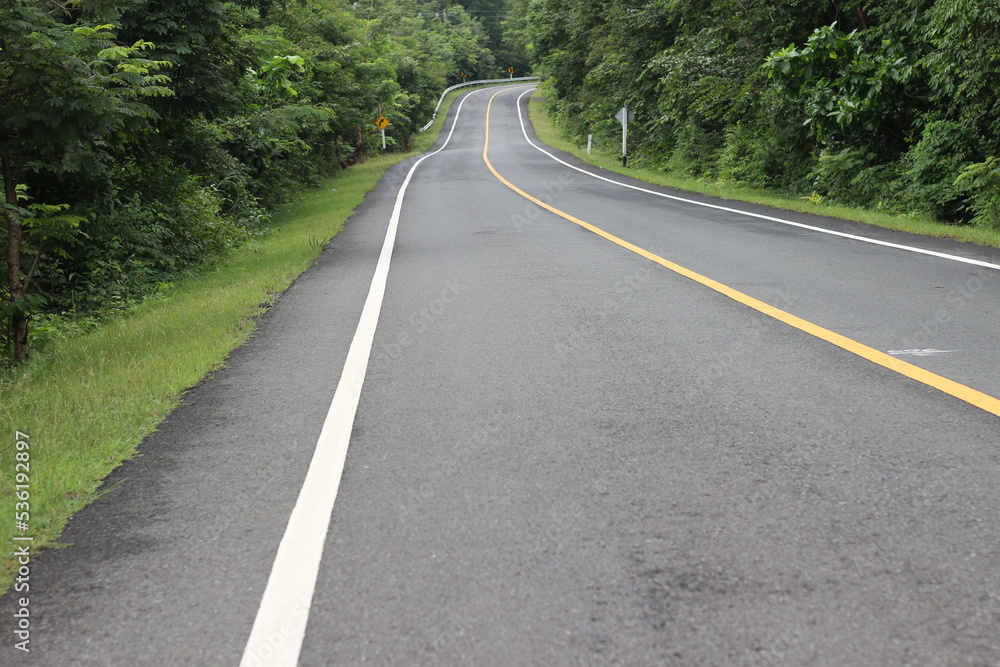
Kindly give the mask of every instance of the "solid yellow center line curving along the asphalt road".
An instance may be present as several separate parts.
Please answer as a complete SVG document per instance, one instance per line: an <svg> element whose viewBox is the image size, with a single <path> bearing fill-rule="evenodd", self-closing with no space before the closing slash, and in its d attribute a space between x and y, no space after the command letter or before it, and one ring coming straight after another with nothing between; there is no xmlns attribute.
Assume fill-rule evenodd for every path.
<svg viewBox="0 0 1000 667"><path fill-rule="evenodd" d="M811 336L815 336L816 338L825 340L828 343L832 343L833 345L836 345L841 349L856 354L859 357L867 359L872 363L876 363L879 366L888 368L889 370L895 371L900 375L905 375L906 377L916 380L917 382L921 382L929 387L933 387L934 389L949 394L950 396L954 396L955 398L963 400L966 403L976 406L977 408L981 408L986 412L1000 416L1000 399L994 396L990 396L989 394L984 394L983 392L973 389L972 387L967 387L964 384L955 382L954 380L949 380L946 377L937 375L936 373L932 373L928 370L920 368L919 366L914 366L913 364L907 363L902 359L897 359L896 357L890 354L886 354L881 350L876 350L875 348L868 347L867 345L859 343L858 341L853 340L851 338L847 338L846 336L842 336L834 331L830 331L829 329L824 329L823 327L817 324L813 324L808 320L804 320L801 317L792 315L791 313L781 310L780 308L776 308L775 306L765 303L759 299L755 299L754 297L748 294L744 294L739 290L735 290L732 287L729 287L728 285L723 285L722 283L716 280L712 280L711 278L703 276L700 273L695 273L694 271L686 269L679 264L675 264L670 260L664 259L659 255L655 255L649 252L648 250L640 248L639 246L633 243L629 243L628 241L625 241L624 239L621 239L615 236L614 234L604 231L600 227L596 227L590 224L589 222L585 222L583 220L580 220L579 218L570 215L569 213L560 211L554 206L550 206L549 204L546 204L542 200L529 195L527 192L520 189L519 187L508 181L506 178L504 178L500 174L500 172L498 172L496 168L493 166L493 163L490 162L489 158L490 111L493 107L494 98L496 98L496 96L499 95L501 92L504 91L497 91L496 93L494 93L493 96L490 97L489 103L486 105L486 141L483 145L483 161L486 163L486 166L493 173L493 175L496 176L501 183L506 185L508 188L510 188L517 194L521 195L522 197L531 201L532 203L541 206L545 210L555 213L561 218L569 220L574 224L580 225L584 229L588 229L593 233L597 234L598 236L602 236L607 240L611 241L612 243L620 245L626 250L631 250L637 255L641 255L642 257L645 257L650 261L656 262L657 264L659 264L664 268L670 269L674 273L678 273L684 276L685 278L690 278L691 280L700 283L705 287L713 289L716 292L719 292L720 294L725 294L734 301L738 301L739 303L742 303L745 306L749 306L750 308L760 311L761 313L764 313L769 317L773 317L774 319L784 322L789 326L793 326L796 329L799 329L800 331L804 331Z"/></svg>

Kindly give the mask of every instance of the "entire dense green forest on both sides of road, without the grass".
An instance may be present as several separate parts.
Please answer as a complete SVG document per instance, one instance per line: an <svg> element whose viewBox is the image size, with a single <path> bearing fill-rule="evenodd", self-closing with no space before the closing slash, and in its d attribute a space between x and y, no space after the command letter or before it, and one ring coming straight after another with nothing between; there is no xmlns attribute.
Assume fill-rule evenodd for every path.
<svg viewBox="0 0 1000 667"><path fill-rule="evenodd" d="M513 66L572 138L712 181L1000 227L984 0L0 0L0 347L120 312L405 149Z"/></svg>

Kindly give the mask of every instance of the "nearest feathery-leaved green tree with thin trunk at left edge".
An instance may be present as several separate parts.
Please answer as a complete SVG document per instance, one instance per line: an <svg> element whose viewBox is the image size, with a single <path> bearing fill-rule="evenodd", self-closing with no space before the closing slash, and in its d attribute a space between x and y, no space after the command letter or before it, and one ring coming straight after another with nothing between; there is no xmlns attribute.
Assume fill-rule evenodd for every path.
<svg viewBox="0 0 1000 667"><path fill-rule="evenodd" d="M0 177L3 181L3 311L13 358L27 354L28 297L46 238L78 223L61 205L22 206L19 185L44 172L73 174L99 164L109 147L131 141L155 118L145 100L171 93L153 45L115 41L109 25L66 24L35 2L0 8ZM29 241L26 243L26 241ZM33 255L26 262L26 255Z"/></svg>

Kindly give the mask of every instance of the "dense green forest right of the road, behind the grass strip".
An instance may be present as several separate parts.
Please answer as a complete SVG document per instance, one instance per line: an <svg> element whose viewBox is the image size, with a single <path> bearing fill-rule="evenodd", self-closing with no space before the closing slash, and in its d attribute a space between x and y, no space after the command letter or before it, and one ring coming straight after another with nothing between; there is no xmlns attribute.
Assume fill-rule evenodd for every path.
<svg viewBox="0 0 1000 667"><path fill-rule="evenodd" d="M515 5L577 141L628 106L647 166L1000 226L995 0Z"/></svg>

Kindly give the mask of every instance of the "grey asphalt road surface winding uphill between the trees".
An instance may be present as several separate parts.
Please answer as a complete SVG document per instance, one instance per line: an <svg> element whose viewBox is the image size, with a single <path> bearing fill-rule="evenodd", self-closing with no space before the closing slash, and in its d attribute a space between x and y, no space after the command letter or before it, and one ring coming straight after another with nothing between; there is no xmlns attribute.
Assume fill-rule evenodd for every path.
<svg viewBox="0 0 1000 667"><path fill-rule="evenodd" d="M596 180L528 144L524 90L490 112L511 184L1000 396L997 269ZM248 641L414 160L38 559L30 654L0 601L0 664L1000 664L997 417L539 208L484 162L493 93L408 183L301 647Z"/></svg>

